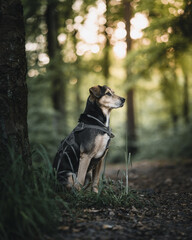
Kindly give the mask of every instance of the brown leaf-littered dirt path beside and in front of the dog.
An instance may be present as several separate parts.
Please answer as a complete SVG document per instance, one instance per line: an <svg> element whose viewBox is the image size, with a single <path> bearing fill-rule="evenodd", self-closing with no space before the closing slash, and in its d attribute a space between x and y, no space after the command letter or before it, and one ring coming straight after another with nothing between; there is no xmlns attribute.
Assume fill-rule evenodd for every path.
<svg viewBox="0 0 192 240"><path fill-rule="evenodd" d="M106 175L116 179L118 169L124 166L107 165ZM58 233L46 239L192 239L192 161L133 163L129 185L151 204L88 208L75 221L64 215Z"/></svg>

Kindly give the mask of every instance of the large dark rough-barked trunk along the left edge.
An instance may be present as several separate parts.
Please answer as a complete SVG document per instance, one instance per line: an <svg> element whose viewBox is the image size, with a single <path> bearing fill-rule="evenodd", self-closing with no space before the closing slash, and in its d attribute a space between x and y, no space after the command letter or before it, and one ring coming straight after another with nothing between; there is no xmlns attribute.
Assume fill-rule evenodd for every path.
<svg viewBox="0 0 192 240"><path fill-rule="evenodd" d="M23 8L20 0L0 2L0 154L10 150L31 164L27 128L27 84Z"/></svg>

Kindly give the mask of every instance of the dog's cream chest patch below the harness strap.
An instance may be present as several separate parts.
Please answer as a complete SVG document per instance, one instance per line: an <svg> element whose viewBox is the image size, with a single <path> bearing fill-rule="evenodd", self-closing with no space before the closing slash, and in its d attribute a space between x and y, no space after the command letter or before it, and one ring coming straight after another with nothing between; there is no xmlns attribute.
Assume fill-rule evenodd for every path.
<svg viewBox="0 0 192 240"><path fill-rule="evenodd" d="M108 134L98 135L95 138L95 156L94 158L100 158L103 156L109 141Z"/></svg>

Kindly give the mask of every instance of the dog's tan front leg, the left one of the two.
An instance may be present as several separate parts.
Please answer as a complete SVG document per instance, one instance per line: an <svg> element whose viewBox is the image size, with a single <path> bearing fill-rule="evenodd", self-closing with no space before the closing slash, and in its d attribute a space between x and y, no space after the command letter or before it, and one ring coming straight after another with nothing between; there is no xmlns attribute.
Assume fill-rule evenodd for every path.
<svg viewBox="0 0 192 240"><path fill-rule="evenodd" d="M79 161L79 168L77 172L77 179L74 185L74 187L77 190L80 190L85 183L85 177L87 174L87 169L89 167L90 161L91 161L91 158L89 155L85 153L81 154L80 161Z"/></svg>

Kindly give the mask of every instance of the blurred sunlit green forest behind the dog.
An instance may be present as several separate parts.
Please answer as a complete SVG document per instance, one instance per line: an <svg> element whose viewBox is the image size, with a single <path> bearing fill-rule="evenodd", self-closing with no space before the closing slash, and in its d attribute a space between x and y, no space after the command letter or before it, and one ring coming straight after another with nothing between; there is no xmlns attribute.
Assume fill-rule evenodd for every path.
<svg viewBox="0 0 192 240"><path fill-rule="evenodd" d="M108 161L192 156L192 2L22 0L28 130L53 159L94 85L126 98ZM127 140L126 140L127 139Z"/></svg>

